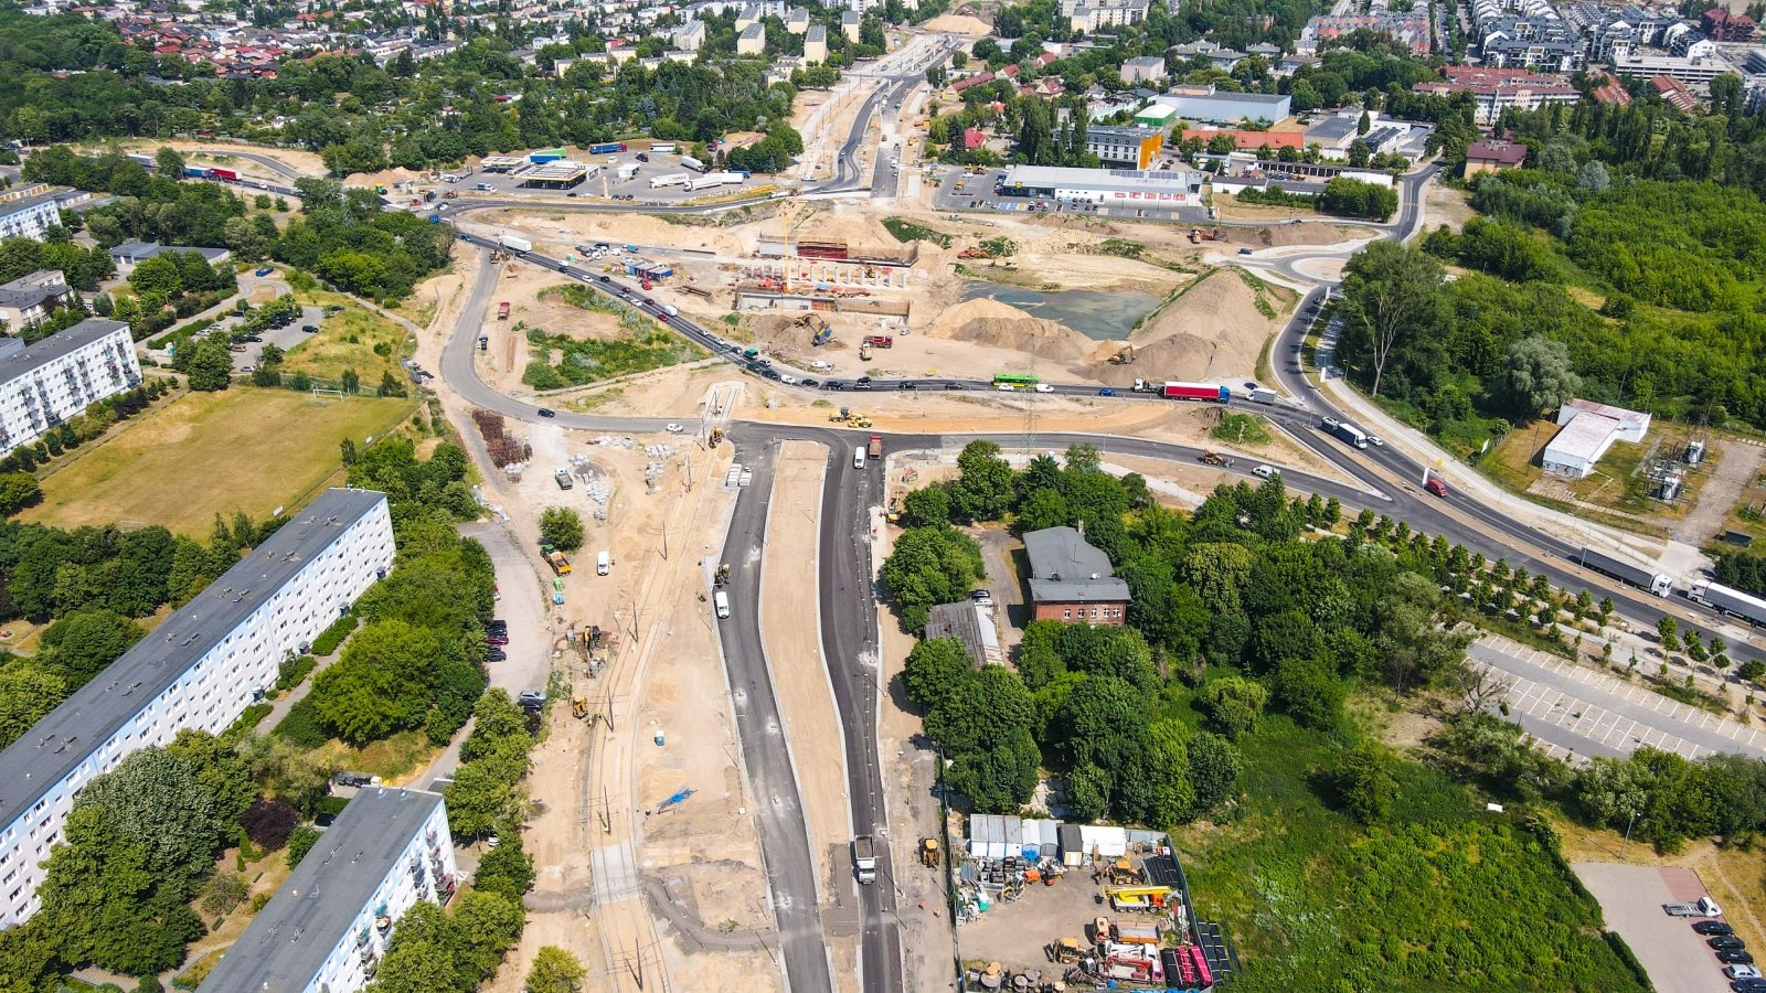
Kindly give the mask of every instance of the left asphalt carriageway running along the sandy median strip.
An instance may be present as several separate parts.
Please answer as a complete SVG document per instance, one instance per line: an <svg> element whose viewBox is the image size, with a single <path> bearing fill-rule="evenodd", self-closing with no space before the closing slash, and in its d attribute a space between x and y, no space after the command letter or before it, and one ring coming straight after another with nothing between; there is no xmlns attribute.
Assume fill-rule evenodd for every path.
<svg viewBox="0 0 1766 993"><path fill-rule="evenodd" d="M791 742L784 735L761 640L759 595L765 564L761 546L766 535L775 447L765 438L735 440L735 443L736 461L752 468L754 479L736 496L729 534L724 537L722 562L729 564L729 585L724 592L729 595L731 613L717 622L717 633L724 670L729 675L731 707L736 712L736 737L742 740L742 760L761 829L766 889L779 929L786 989L832 993L834 979L828 972L826 940L816 901L816 859L809 850L804 804L791 765ZM798 742L798 747L814 747L814 742Z"/></svg>

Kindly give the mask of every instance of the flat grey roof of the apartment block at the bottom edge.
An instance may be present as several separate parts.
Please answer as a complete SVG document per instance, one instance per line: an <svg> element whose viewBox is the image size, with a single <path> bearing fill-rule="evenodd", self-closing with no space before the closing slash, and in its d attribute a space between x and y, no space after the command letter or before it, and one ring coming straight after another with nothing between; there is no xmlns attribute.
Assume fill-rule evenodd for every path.
<svg viewBox="0 0 1766 993"><path fill-rule="evenodd" d="M422 790L362 790L203 979L203 993L306 989L442 806ZM450 839L438 839L452 845Z"/></svg>

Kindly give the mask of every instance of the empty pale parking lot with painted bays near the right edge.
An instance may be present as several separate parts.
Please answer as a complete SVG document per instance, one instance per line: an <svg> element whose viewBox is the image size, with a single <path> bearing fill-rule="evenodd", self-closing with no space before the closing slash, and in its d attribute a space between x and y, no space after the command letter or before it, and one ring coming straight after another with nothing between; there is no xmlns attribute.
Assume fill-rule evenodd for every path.
<svg viewBox="0 0 1766 993"><path fill-rule="evenodd" d="M1508 717L1552 754L1621 756L1648 746L1687 758L1713 751L1766 758L1766 733L1642 684L1501 638L1482 638L1466 654L1508 680Z"/></svg>

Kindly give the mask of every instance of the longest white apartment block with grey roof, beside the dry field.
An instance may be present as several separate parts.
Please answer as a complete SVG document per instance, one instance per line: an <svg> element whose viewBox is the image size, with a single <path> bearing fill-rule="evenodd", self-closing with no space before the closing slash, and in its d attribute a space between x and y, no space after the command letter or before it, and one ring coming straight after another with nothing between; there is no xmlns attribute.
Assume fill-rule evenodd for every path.
<svg viewBox="0 0 1766 993"><path fill-rule="evenodd" d="M0 751L0 928L41 908L42 860L94 776L184 728L224 731L390 565L387 495L328 489Z"/></svg>

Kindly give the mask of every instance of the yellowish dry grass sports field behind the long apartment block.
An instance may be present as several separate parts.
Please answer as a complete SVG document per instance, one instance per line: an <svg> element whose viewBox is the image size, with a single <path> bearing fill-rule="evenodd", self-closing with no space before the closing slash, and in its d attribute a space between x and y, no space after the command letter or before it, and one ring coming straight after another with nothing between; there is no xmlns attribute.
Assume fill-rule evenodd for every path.
<svg viewBox="0 0 1766 993"><path fill-rule="evenodd" d="M263 519L341 481L337 442L378 436L411 405L369 398L314 405L307 394L251 387L187 394L44 477L42 504L21 519L143 521L207 537L217 512Z"/></svg>

